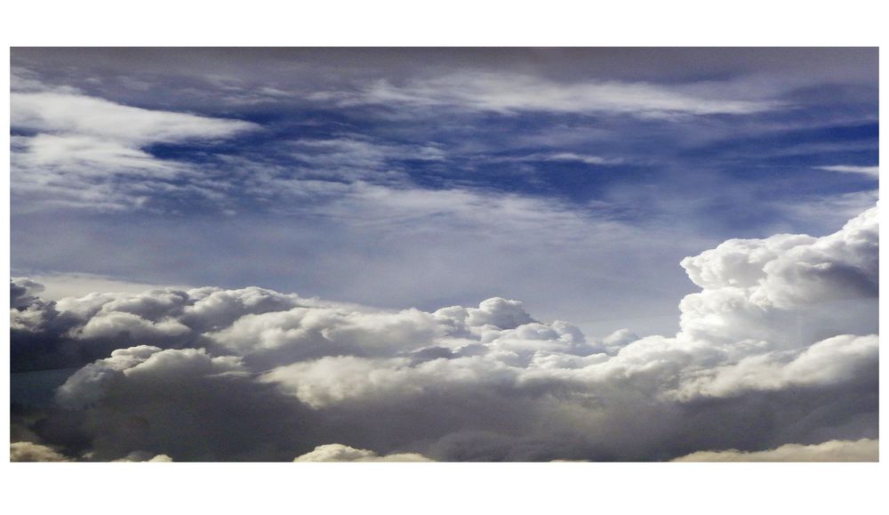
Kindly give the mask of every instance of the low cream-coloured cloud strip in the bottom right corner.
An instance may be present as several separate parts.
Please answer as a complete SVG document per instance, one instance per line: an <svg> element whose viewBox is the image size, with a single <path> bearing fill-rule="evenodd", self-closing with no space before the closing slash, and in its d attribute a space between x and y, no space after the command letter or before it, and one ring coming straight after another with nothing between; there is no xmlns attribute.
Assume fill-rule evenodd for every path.
<svg viewBox="0 0 889 515"><path fill-rule="evenodd" d="M830 440L821 444L801 446L788 444L758 452L699 451L676 458L674 462L877 462L879 440Z"/></svg>

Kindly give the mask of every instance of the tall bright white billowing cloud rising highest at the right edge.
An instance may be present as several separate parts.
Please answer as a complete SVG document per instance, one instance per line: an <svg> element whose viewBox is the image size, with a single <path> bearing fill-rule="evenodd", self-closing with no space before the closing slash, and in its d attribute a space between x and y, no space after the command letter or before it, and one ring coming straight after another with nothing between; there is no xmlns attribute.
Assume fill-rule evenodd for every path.
<svg viewBox="0 0 889 515"><path fill-rule="evenodd" d="M877 332L877 208L827 237L729 240L682 266L703 290L680 303L683 335L781 348Z"/></svg>

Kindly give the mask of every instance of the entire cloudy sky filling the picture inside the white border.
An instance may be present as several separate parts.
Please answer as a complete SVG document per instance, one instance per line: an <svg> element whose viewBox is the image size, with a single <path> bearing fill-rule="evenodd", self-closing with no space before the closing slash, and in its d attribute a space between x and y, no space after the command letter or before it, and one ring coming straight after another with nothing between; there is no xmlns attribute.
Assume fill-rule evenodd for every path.
<svg viewBox="0 0 889 515"><path fill-rule="evenodd" d="M11 63L22 456L876 453L877 49Z"/></svg>

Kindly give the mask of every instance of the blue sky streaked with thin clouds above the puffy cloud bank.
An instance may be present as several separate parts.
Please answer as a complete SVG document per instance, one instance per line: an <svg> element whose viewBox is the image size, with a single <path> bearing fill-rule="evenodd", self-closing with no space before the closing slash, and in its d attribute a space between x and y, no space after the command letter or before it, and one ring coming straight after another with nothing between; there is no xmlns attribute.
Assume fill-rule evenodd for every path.
<svg viewBox="0 0 889 515"><path fill-rule="evenodd" d="M668 334L685 256L874 205L877 93L876 49L13 49L12 271Z"/></svg>

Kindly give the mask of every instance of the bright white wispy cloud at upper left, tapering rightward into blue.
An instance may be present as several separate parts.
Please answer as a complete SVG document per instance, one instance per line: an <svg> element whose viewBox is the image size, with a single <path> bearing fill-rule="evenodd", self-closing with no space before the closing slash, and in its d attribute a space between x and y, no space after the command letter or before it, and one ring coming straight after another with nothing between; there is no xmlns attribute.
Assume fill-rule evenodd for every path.
<svg viewBox="0 0 889 515"><path fill-rule="evenodd" d="M10 98L13 198L25 210L140 207L182 190L192 165L149 153L159 143L203 143L255 131L241 120L141 109L30 79ZM204 195L211 193L203 191Z"/></svg>

